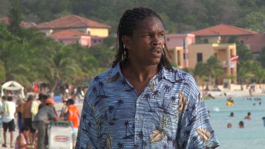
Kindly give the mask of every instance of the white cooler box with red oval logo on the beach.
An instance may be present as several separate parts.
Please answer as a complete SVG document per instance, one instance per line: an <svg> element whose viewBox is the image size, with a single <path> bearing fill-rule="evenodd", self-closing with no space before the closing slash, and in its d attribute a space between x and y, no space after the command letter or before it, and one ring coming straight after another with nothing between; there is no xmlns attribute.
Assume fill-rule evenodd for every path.
<svg viewBox="0 0 265 149"><path fill-rule="evenodd" d="M72 149L72 123L57 121L48 126L48 149Z"/></svg>

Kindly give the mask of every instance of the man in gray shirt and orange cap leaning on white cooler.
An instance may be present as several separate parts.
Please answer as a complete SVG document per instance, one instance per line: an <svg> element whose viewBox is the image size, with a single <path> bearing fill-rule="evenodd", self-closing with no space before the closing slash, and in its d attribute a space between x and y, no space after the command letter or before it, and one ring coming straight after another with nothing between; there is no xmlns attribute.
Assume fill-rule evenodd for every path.
<svg viewBox="0 0 265 149"><path fill-rule="evenodd" d="M54 104L56 103L54 102L53 99L48 98L45 103L46 106L39 109L38 113L36 114L32 122L32 127L38 130L38 149L46 148L47 144L45 145L44 142L46 139L45 136L49 120L54 120L54 121L63 120L63 117L58 118L54 113L53 107Z"/></svg>

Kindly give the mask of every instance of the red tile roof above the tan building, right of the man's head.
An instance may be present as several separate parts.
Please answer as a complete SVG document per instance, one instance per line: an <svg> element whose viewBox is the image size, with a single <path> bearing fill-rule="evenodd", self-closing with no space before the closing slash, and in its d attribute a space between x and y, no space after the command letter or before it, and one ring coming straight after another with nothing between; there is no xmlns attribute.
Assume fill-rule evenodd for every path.
<svg viewBox="0 0 265 149"><path fill-rule="evenodd" d="M219 24L213 27L197 30L191 32L195 36L214 36L214 35L242 35L242 34L257 34L258 32L247 30L244 28L239 28L226 24Z"/></svg>

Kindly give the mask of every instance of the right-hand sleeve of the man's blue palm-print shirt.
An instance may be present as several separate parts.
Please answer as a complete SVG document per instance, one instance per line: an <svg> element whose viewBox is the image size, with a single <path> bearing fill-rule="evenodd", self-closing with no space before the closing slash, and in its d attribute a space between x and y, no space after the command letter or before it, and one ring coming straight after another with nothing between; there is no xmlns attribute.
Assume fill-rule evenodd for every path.
<svg viewBox="0 0 265 149"><path fill-rule="evenodd" d="M210 124L204 99L197 85L193 93L187 96L187 101L187 109L182 111L182 115L179 118L178 146L180 148L196 149L204 149L206 147L209 149L220 146Z"/></svg>

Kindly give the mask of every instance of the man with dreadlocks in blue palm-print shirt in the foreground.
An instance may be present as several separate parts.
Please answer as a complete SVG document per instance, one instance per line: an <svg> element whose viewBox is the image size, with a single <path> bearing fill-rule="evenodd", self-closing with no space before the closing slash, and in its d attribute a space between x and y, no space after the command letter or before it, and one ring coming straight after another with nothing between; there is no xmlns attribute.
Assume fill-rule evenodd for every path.
<svg viewBox="0 0 265 149"><path fill-rule="evenodd" d="M216 148L191 75L166 58L165 30L149 8L126 10L112 68L86 93L76 148Z"/></svg>

